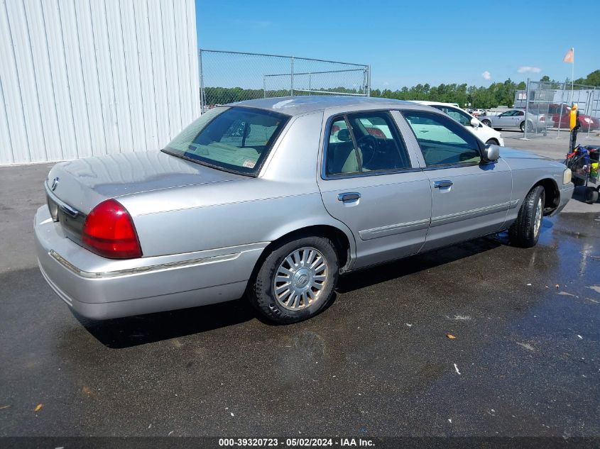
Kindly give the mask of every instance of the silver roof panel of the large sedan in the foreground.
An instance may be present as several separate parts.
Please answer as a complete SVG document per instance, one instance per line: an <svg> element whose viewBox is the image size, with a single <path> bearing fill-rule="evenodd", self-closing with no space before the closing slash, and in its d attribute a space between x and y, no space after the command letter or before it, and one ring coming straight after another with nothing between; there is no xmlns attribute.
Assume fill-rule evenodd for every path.
<svg viewBox="0 0 600 449"><path fill-rule="evenodd" d="M307 96L280 96L256 100L238 101L228 106L246 106L258 109L270 109L285 113L289 116L298 116L304 113L323 111L324 109L339 106L390 106L412 105L410 101L393 100L387 98L374 98L372 96L354 95L307 95Z"/></svg>

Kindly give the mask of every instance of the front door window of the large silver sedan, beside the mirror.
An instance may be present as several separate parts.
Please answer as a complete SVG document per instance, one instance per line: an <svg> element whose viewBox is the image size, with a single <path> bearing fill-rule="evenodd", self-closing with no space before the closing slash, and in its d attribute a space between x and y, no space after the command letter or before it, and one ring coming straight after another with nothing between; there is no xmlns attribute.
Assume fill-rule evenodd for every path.
<svg viewBox="0 0 600 449"><path fill-rule="evenodd" d="M403 111L413 128L427 167L481 162L474 135L437 113Z"/></svg>

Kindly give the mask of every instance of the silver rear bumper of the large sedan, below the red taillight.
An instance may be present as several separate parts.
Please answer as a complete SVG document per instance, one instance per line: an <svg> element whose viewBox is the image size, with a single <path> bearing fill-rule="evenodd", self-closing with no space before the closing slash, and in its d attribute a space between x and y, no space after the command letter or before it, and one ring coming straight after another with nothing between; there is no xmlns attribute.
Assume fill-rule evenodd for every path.
<svg viewBox="0 0 600 449"><path fill-rule="evenodd" d="M46 206L34 227L43 277L78 314L98 320L237 299L268 244L109 260L65 238Z"/></svg>

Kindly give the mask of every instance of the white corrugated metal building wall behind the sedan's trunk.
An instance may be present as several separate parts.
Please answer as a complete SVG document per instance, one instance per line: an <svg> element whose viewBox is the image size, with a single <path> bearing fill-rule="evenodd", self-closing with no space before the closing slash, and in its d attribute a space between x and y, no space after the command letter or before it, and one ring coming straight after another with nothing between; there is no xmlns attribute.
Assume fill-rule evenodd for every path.
<svg viewBox="0 0 600 449"><path fill-rule="evenodd" d="M0 165L162 148L199 84L194 0L0 0Z"/></svg>

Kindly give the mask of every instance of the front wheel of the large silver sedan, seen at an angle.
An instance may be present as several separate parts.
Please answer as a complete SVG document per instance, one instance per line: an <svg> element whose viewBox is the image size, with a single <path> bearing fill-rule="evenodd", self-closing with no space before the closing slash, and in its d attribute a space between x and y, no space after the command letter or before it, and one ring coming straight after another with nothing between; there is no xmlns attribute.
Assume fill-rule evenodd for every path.
<svg viewBox="0 0 600 449"><path fill-rule="evenodd" d="M544 216L544 202L545 192L542 186L533 187L525 196L517 220L508 229L508 239L511 244L520 248L532 248L538 243Z"/></svg>

